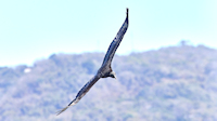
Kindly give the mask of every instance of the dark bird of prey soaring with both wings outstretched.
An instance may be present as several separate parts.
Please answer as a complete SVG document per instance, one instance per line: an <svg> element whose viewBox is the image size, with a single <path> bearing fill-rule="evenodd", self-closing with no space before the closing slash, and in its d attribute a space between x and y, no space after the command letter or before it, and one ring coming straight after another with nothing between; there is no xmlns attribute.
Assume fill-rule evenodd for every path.
<svg viewBox="0 0 217 121"><path fill-rule="evenodd" d="M110 44L110 48L108 48L108 50L105 54L104 60L102 63L102 66L98 70L97 75L82 86L82 89L76 95L75 99L72 100L65 108L60 110L58 112L58 115L65 111L68 107L77 104L100 78L111 77L111 78L116 79L116 75L112 70L111 64L112 64L112 59L114 57L114 54L115 54L117 48L119 46L119 43L122 42L125 32L127 31L127 28L128 28L128 9L127 9L126 19L125 19L123 26L120 27L119 31L117 32L116 37L114 38L114 40Z"/></svg>

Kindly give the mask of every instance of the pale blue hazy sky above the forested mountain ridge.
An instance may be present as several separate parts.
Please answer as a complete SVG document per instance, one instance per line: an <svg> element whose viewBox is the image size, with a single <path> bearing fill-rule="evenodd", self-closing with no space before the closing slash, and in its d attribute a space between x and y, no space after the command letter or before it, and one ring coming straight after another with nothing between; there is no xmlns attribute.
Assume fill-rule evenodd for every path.
<svg viewBox="0 0 217 121"><path fill-rule="evenodd" d="M176 45L217 49L217 0L1 0L0 66L53 53L106 52L126 17L118 54Z"/></svg>

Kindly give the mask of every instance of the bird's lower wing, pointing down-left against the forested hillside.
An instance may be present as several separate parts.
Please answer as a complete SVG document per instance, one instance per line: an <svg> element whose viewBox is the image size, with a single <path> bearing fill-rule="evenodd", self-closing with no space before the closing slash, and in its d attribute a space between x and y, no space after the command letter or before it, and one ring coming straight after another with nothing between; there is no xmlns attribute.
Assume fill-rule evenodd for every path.
<svg viewBox="0 0 217 121"><path fill-rule="evenodd" d="M68 107L76 105L85 95L86 93L92 88L92 85L99 80L98 76L94 76L90 81L88 81L82 89L78 92L75 99L73 99L65 108L58 111L56 116L65 111Z"/></svg>

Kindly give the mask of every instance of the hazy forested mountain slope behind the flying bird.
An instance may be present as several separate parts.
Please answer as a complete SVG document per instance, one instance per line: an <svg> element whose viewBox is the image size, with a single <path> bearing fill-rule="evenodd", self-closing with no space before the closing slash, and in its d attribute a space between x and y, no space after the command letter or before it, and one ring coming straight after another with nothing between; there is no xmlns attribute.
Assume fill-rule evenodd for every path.
<svg viewBox="0 0 217 121"><path fill-rule="evenodd" d="M100 79L60 116L104 53L53 54L0 67L1 121L216 121L217 50L177 45L115 55L117 80Z"/></svg>

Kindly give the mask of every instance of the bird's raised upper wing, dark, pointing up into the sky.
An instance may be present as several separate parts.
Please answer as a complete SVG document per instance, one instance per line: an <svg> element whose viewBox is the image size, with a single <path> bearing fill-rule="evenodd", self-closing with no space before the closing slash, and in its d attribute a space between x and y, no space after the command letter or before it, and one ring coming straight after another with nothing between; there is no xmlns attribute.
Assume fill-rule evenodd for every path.
<svg viewBox="0 0 217 121"><path fill-rule="evenodd" d="M115 39L110 44L107 53L106 53L104 60L102 63L102 66L105 65L105 64L111 65L112 59L114 57L114 54L115 54L117 48L119 46L119 43L122 42L122 39L123 39L125 32L127 31L127 28L128 28L128 9L127 9L126 19L125 19L123 26L120 27L119 31L117 32L117 36L115 37Z"/></svg>

